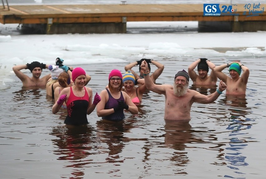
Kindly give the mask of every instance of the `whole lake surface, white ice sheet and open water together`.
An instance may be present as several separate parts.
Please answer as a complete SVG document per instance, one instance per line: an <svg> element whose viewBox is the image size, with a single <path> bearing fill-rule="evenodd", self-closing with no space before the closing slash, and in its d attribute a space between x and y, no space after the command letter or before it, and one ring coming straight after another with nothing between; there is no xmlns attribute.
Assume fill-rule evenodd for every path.
<svg viewBox="0 0 266 179"><path fill-rule="evenodd" d="M1 28L1 178L265 178L266 53L258 40L265 32L199 34L193 24L180 34L171 24L165 34L165 26L149 26L116 35L20 35L16 28ZM215 65L240 60L250 76L245 97L224 92L211 104L194 103L190 121L165 121L164 96L148 92L139 114L125 112L122 123L103 123L95 110L87 126L66 128L66 111L52 114L54 101L45 89L22 88L10 73L14 64L48 64L56 57L91 75L93 95L105 88L113 68L122 71L142 57L165 65L156 80L161 84L172 84L175 73L199 57ZM191 81L190 88L202 94L215 90L193 87Z"/></svg>

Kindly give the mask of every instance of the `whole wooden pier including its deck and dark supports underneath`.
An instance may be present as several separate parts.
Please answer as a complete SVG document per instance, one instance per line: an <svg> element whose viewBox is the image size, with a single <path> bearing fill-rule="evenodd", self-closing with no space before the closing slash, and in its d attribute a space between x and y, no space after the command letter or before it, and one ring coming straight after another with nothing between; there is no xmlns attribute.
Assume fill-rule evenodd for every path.
<svg viewBox="0 0 266 179"><path fill-rule="evenodd" d="M199 31L266 30L265 12L244 11L244 4L237 6L239 16L203 16L203 4L14 5L0 9L0 23L43 28L45 34L126 33L130 21L199 21Z"/></svg>

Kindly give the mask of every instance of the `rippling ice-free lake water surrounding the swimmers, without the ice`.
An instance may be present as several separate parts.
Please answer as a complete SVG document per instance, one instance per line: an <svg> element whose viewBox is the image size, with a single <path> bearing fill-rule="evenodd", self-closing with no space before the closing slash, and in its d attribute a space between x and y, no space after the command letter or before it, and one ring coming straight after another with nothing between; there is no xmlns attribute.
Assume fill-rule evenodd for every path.
<svg viewBox="0 0 266 179"><path fill-rule="evenodd" d="M172 84L176 68L187 69L194 61L156 60L165 65L156 81L162 84ZM103 123L95 110L87 126L67 129L66 111L52 114L54 102L45 89L22 89L12 76L10 88L1 90L1 178L265 178L266 62L238 60L250 69L246 97L223 93L212 104L194 103L189 122L165 121L164 96L148 92L139 114L125 112L123 123ZM111 69L126 64L82 65L91 75L93 94L104 89Z"/></svg>

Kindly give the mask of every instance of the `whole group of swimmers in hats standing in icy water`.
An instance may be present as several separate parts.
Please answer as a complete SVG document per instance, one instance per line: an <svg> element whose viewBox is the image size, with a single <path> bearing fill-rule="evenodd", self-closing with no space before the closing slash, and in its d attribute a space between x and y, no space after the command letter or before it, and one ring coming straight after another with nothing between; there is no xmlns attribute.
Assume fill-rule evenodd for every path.
<svg viewBox="0 0 266 179"><path fill-rule="evenodd" d="M150 64L157 69L150 75ZM131 68L139 65L140 75ZM198 67L198 74L194 69ZM40 78L42 69L48 68L51 74ZM208 75L209 68L211 73ZM229 68L230 76L222 70ZM32 77L20 70L29 69ZM137 103L142 101L143 93L147 90L165 95L165 120L190 120L190 109L194 102L212 103L226 89L226 95L245 94L249 77L249 69L240 62L231 62L215 67L208 59L201 58L193 62L188 73L185 70L175 74L172 85L156 84L155 80L164 70L164 65L152 59L141 59L125 66L125 73L113 69L109 74L109 83L100 94L95 94L92 101L92 89L86 87L91 77L85 70L69 68L63 65L63 59L57 58L55 65L32 62L26 65L17 65L13 71L22 81L23 86L46 86L47 95L54 97L55 104L52 113L56 114L61 107L67 108L65 124L88 124L87 115L96 108L98 117L105 121L122 121L125 118L124 110L138 114ZM241 70L243 74L240 77ZM189 80L195 85L215 85L219 82L216 92L203 95L195 90L188 89ZM51 89L51 90L50 90Z"/></svg>

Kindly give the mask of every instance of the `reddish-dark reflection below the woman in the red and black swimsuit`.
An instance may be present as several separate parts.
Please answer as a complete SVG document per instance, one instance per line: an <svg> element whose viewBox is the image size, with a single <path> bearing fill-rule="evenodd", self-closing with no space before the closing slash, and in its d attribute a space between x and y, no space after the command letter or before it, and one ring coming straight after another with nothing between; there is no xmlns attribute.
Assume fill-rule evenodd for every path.
<svg viewBox="0 0 266 179"><path fill-rule="evenodd" d="M52 143L57 146L53 152L59 156L57 160L67 161L65 167L72 167L71 174L75 177L84 175L84 171L78 168L90 163L91 160L86 157L93 153L89 151L97 150L94 145L93 131L94 129L88 125L57 126L52 130L51 135L57 137L52 139Z"/></svg>

